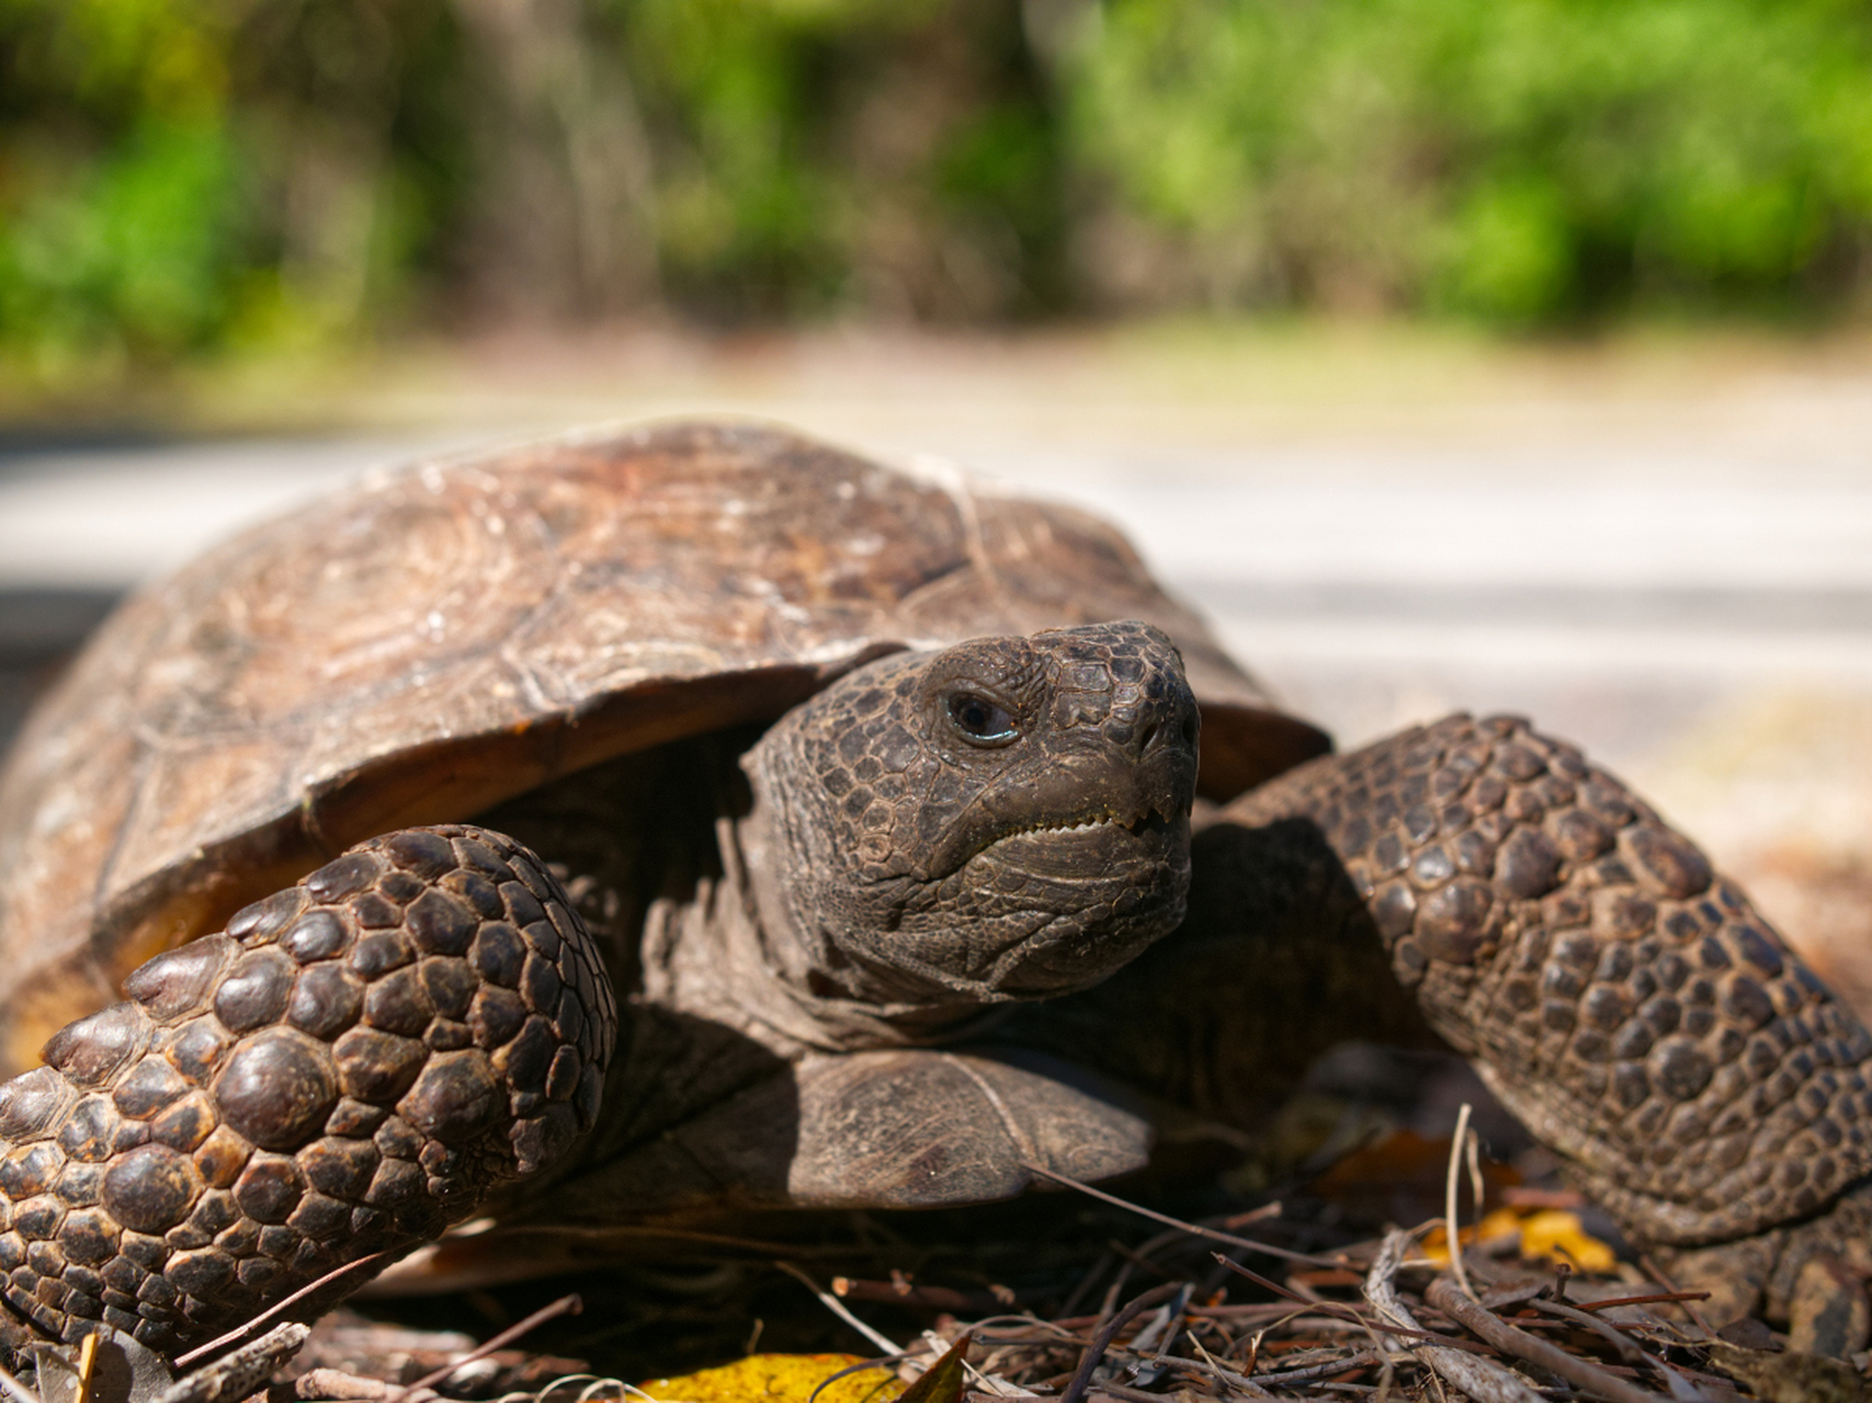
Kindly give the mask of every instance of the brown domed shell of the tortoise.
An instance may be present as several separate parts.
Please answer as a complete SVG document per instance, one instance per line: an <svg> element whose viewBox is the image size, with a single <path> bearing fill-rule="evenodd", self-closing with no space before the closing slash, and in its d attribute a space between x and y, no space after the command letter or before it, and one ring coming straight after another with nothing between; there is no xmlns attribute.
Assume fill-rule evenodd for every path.
<svg viewBox="0 0 1872 1403"><path fill-rule="evenodd" d="M749 425L367 475L127 600L0 773L0 1072L354 842L762 722L870 658L1136 617L1224 799L1327 748L1104 522Z"/></svg>

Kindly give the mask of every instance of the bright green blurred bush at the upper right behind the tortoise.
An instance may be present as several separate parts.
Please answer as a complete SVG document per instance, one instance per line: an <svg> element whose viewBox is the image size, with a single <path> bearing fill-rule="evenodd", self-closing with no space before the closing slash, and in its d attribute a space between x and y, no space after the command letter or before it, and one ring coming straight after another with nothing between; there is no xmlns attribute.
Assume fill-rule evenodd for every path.
<svg viewBox="0 0 1872 1403"><path fill-rule="evenodd" d="M1872 271L1863 4L1116 0L1103 19L1076 67L1084 165L1211 305L1801 311Z"/></svg>

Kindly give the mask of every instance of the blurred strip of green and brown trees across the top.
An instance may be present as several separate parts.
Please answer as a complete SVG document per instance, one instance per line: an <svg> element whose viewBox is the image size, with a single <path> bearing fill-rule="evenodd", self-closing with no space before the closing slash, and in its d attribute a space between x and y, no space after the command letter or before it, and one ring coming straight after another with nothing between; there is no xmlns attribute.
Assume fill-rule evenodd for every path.
<svg viewBox="0 0 1872 1403"><path fill-rule="evenodd" d="M1851 318L1844 0L0 0L0 357L676 316Z"/></svg>

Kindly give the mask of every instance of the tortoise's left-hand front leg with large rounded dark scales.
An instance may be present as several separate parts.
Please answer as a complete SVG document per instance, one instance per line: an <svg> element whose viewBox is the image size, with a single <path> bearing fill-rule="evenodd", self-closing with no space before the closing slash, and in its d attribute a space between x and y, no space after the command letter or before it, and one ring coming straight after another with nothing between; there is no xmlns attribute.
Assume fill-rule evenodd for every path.
<svg viewBox="0 0 1872 1403"><path fill-rule="evenodd" d="M618 1021L545 864L461 825L359 844L124 988L0 1085L0 1341L172 1351L359 1285L592 1126Z"/></svg>

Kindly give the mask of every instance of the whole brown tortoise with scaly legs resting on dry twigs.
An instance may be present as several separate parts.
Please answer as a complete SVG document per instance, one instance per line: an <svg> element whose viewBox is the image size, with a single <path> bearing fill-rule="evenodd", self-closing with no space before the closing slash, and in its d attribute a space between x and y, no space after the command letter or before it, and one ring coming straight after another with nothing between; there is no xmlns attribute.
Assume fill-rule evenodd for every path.
<svg viewBox="0 0 1872 1403"><path fill-rule="evenodd" d="M1110 526L779 428L210 550L21 733L0 872L11 1347L1104 1179L1348 1034L1468 1055L1726 1313L1866 1265L1872 1036L1578 748L1333 754Z"/></svg>

